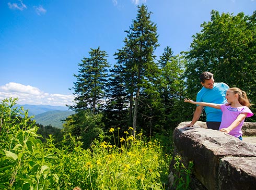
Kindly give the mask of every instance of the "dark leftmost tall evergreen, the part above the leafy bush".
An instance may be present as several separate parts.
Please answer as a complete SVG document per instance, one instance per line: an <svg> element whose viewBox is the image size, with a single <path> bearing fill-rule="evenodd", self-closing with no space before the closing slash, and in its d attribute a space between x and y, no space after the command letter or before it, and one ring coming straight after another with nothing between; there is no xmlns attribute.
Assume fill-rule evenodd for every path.
<svg viewBox="0 0 256 190"><path fill-rule="evenodd" d="M84 57L78 74L74 74L77 81L74 82L74 106L69 106L73 110L90 109L92 113L99 111L104 104L104 97L106 94L106 84L108 80L107 53L97 49L92 49L89 52L89 58Z"/></svg>

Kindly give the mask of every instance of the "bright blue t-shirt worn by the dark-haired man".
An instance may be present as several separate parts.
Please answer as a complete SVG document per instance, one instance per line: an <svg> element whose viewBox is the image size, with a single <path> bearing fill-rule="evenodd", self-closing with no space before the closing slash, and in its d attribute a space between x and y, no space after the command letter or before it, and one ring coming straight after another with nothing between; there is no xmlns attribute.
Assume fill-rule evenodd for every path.
<svg viewBox="0 0 256 190"><path fill-rule="evenodd" d="M223 82L214 83L213 89L202 87L201 90L197 93L196 102L225 104L225 96L228 88L228 85ZM204 110L206 113L206 121L222 121L222 110L211 108L208 106L205 106Z"/></svg>

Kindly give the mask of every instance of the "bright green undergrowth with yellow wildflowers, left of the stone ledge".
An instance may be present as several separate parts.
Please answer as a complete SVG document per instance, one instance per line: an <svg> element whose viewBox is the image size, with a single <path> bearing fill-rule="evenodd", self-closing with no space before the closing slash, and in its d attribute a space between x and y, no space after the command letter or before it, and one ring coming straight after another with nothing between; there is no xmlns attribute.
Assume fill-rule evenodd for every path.
<svg viewBox="0 0 256 190"><path fill-rule="evenodd" d="M84 149L69 135L56 148L51 135L45 144L38 139L28 112L12 109L14 104L11 98L0 104L1 189L167 188L170 156L157 140L145 142L142 133L135 138L129 128L113 145L95 140Z"/></svg>

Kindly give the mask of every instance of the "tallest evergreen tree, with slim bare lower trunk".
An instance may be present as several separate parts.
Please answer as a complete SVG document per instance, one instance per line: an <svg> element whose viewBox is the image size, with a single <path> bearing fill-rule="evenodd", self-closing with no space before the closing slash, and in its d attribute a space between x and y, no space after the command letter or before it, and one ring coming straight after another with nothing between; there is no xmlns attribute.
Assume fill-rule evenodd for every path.
<svg viewBox="0 0 256 190"><path fill-rule="evenodd" d="M133 21L130 30L125 31L127 33L125 46L115 54L118 56L118 63L123 65L124 83L129 94L129 120L130 124L132 122L134 135L140 93L146 92L149 86L154 85L153 81L158 70L153 55L158 46L157 27L150 21L150 14L145 5L138 6L136 20Z"/></svg>

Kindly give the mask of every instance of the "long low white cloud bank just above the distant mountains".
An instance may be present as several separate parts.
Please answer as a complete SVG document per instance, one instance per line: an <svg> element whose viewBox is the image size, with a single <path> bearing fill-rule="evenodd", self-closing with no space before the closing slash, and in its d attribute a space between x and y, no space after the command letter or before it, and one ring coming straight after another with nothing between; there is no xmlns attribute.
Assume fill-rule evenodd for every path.
<svg viewBox="0 0 256 190"><path fill-rule="evenodd" d="M49 94L39 88L10 82L0 86L0 100L5 98L18 98L17 104L65 106L73 105L73 95Z"/></svg>

